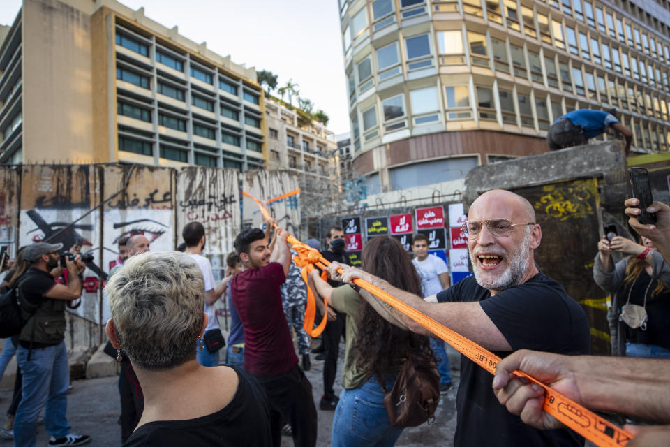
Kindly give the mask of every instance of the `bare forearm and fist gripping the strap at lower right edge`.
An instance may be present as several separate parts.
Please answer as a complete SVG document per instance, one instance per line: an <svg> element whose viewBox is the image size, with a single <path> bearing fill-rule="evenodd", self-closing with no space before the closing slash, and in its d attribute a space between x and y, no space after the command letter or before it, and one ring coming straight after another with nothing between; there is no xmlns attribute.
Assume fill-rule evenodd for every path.
<svg viewBox="0 0 670 447"><path fill-rule="evenodd" d="M560 356L526 349L500 360L493 379L493 392L500 403L524 423L552 429L562 425L542 411L544 390L514 376L515 369L589 409L670 423L670 361Z"/></svg>

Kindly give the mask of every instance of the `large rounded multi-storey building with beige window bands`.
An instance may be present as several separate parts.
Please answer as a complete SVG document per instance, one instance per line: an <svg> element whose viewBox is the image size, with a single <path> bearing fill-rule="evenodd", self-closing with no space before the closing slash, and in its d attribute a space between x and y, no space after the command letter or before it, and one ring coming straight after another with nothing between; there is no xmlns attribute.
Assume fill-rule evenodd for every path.
<svg viewBox="0 0 670 447"><path fill-rule="evenodd" d="M550 124L577 108L618 108L634 154L667 154L667 1L339 6L352 156L368 195L462 189L474 166L548 150Z"/></svg>

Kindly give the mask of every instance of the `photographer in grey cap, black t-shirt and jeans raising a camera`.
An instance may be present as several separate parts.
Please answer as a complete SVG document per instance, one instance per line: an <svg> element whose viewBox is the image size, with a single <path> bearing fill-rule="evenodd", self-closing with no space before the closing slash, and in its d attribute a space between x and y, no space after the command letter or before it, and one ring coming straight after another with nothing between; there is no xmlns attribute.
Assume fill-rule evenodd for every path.
<svg viewBox="0 0 670 447"><path fill-rule="evenodd" d="M65 338L66 303L80 298L80 256L66 256L68 284L57 284L50 271L57 267L63 244L33 244L24 249L30 268L19 285L22 317L17 364L23 374L22 400L14 421L15 447L34 446L37 418L45 408L49 446L80 446L88 435L73 434L66 418L70 369Z"/></svg>

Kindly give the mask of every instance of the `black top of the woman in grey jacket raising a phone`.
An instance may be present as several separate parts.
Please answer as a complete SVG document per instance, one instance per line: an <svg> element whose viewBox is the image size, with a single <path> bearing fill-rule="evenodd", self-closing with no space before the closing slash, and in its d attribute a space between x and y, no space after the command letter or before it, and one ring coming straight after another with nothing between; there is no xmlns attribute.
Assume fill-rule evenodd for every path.
<svg viewBox="0 0 670 447"><path fill-rule="evenodd" d="M654 280L653 284L649 284L651 280L649 274L643 270L632 284L626 284L623 297L627 297L630 292L630 303L643 306L647 312L646 329L632 329L625 325L626 339L631 343L655 344L670 349L670 330L668 330L670 328L670 290L664 287L660 293L652 296L658 282ZM630 291L631 287L632 291ZM619 312L625 304L626 298L620 300Z"/></svg>

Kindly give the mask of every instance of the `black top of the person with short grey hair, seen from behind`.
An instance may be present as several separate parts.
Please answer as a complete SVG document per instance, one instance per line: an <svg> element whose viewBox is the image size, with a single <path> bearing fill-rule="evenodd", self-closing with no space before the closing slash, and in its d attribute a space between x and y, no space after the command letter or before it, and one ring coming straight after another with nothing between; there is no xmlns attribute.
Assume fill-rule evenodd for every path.
<svg viewBox="0 0 670 447"><path fill-rule="evenodd" d="M188 420L159 420L137 428L124 447L271 446L270 410L252 376L237 367L239 383L232 400L216 413Z"/></svg>

